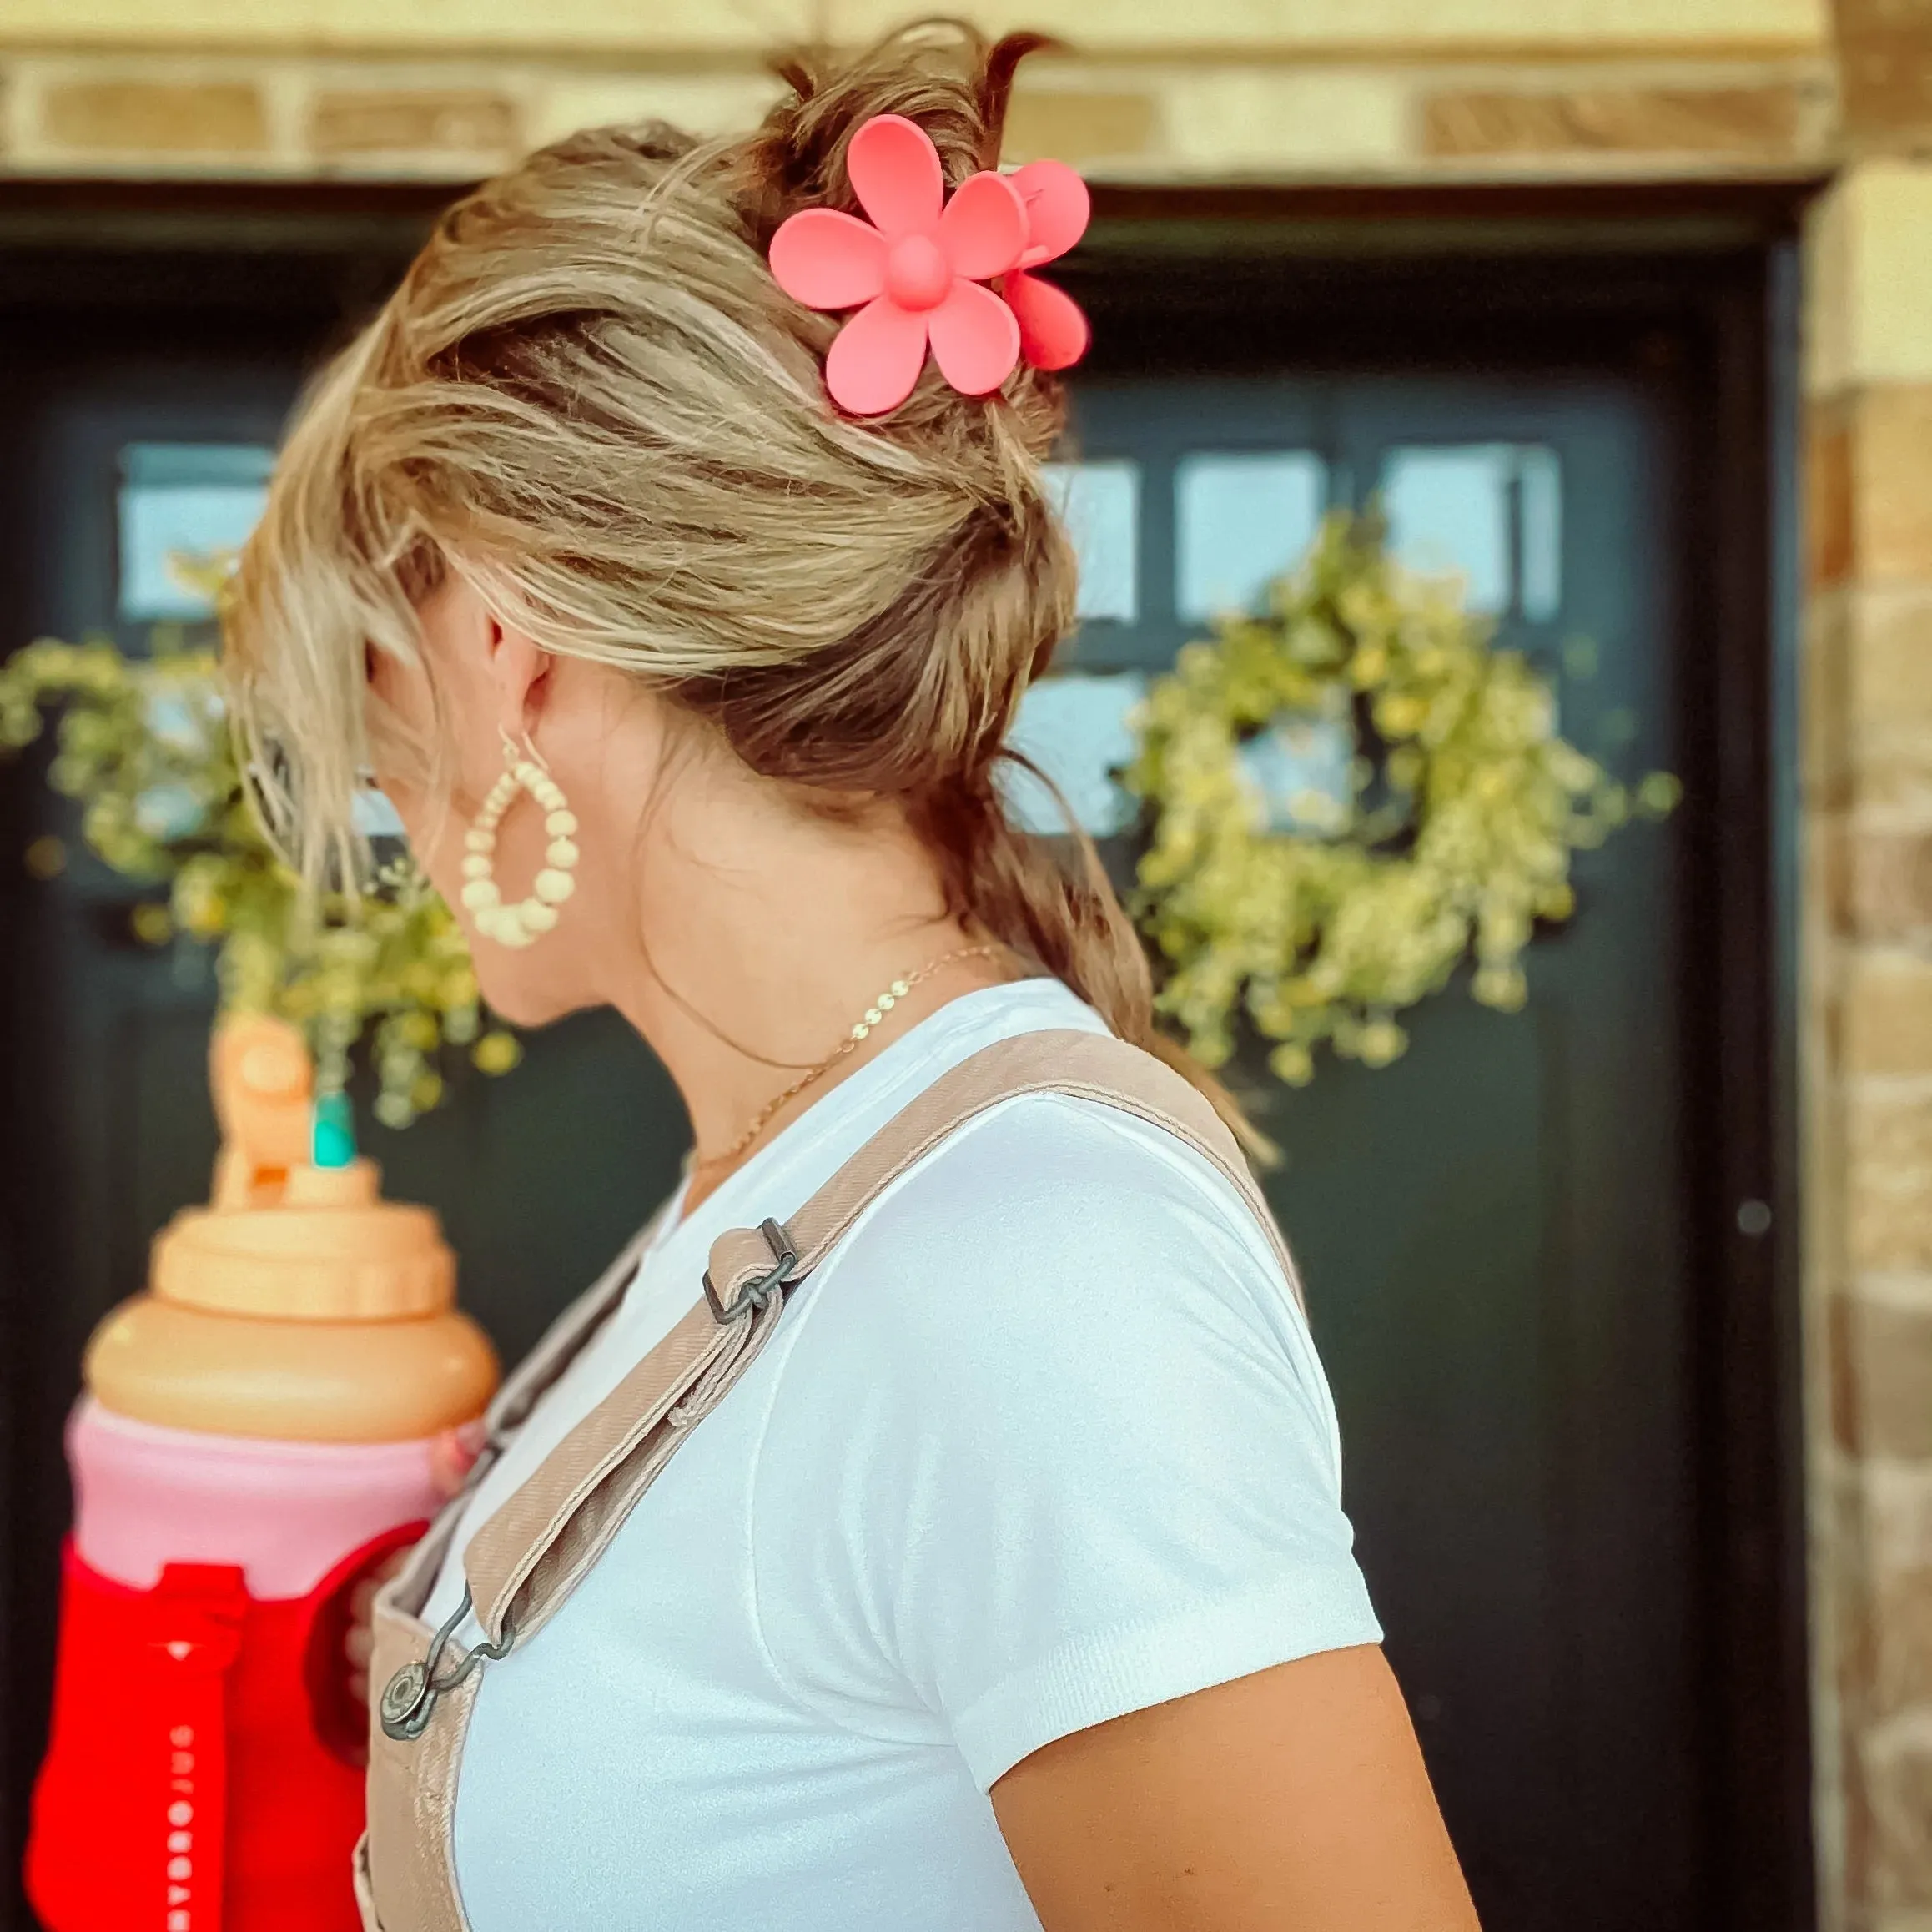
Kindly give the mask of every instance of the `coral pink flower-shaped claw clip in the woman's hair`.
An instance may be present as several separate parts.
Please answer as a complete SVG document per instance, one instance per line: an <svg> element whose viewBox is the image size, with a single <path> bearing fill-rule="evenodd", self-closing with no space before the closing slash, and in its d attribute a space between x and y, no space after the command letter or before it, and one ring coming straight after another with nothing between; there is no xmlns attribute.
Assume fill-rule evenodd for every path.
<svg viewBox="0 0 1932 1932"><path fill-rule="evenodd" d="M947 201L925 129L875 114L852 135L846 170L869 222L804 209L771 238L771 272L794 301L858 309L825 357L840 410L896 410L927 348L962 396L999 388L1022 354L1036 369L1065 369L1086 354L1078 303L1032 272L1086 230L1086 182L1072 168L1034 160L1014 174L974 174Z"/></svg>

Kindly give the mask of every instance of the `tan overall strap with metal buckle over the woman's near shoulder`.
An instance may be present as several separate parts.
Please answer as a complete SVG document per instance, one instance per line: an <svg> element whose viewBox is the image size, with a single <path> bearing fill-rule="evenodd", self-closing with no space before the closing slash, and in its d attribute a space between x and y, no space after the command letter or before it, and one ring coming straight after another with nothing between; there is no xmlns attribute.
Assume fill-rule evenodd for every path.
<svg viewBox="0 0 1932 1932"><path fill-rule="evenodd" d="M535 1634L603 1555L684 1434L763 1349L784 1291L817 1267L881 1190L966 1121L1026 1094L1121 1107L1198 1148L1267 1231L1296 1296L1294 1265L1235 1136L1208 1099L1153 1055L1109 1034L1022 1034L927 1088L781 1227L734 1229L711 1248L705 1298L558 1443L464 1553L491 1646Z"/></svg>

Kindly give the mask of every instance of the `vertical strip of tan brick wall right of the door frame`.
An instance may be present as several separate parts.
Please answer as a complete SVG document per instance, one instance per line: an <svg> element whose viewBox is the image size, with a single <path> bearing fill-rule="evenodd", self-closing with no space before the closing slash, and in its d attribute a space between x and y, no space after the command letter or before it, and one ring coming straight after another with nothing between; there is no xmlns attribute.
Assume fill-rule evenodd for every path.
<svg viewBox="0 0 1932 1932"><path fill-rule="evenodd" d="M1932 48L1928 48L1932 54ZM1926 62L1932 68L1932 60ZM1872 81L1872 77L1866 77ZM1810 234L1806 1209L1830 1926L1932 1926L1932 164Z"/></svg>

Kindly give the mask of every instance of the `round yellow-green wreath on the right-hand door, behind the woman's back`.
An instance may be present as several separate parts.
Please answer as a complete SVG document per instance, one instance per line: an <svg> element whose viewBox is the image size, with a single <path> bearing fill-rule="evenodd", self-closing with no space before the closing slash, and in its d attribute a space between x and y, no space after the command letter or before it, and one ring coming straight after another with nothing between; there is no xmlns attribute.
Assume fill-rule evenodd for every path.
<svg viewBox="0 0 1932 1932"><path fill-rule="evenodd" d="M1669 775L1633 792L1565 742L1522 653L1453 583L1397 566L1372 516L1331 516L1262 614L1182 649L1138 723L1122 777L1151 808L1134 910L1159 1007L1211 1066L1244 1014L1294 1086L1323 1041L1397 1059L1397 1014L1466 958L1478 1001L1522 1007L1538 922L1575 910L1571 854L1677 800ZM1306 773L1321 782L1283 794Z"/></svg>

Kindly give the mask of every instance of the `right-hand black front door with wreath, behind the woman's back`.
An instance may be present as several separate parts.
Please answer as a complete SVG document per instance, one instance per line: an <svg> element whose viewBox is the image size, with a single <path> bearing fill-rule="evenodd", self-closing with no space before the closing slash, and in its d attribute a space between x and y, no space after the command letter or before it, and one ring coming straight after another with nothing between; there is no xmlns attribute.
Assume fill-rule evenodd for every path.
<svg viewBox="0 0 1932 1932"><path fill-rule="evenodd" d="M1459 570L1546 667L1573 742L1633 775L1696 759L1663 514L1679 456L1640 375L1099 379L1078 456L1090 582L1119 572L1132 620L1088 620L1049 709L1115 711L1323 508L1379 502L1399 554ZM1103 522L1128 498L1132 529ZM1580 856L1578 914L1534 949L1522 1014L1457 987L1385 1070L1254 1082L1362 1561L1492 1928L1706 1922L1687 1453L1694 1146L1716 1124L1687 1051L1704 810L1692 784L1671 821Z"/></svg>

